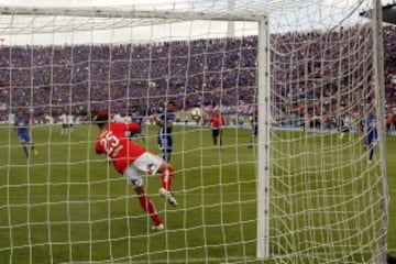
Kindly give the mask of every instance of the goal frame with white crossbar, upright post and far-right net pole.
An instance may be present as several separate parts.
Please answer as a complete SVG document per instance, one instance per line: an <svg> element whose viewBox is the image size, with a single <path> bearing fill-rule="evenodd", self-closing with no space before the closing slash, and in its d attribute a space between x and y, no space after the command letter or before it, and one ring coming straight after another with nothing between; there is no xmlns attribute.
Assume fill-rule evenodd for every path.
<svg viewBox="0 0 396 264"><path fill-rule="evenodd" d="M383 38L382 38L382 8L381 1L373 0L374 12L372 18L372 26L374 30L374 73L375 73L375 96L376 106L381 117L385 111L381 107L384 103L384 58L383 58ZM195 12L178 10L120 10L110 8L21 8L21 7L0 7L2 15L56 15L56 16L80 16L80 18L123 18L123 19L160 19L172 20L175 22L188 20L212 20L212 21L248 21L257 23L257 105L258 105L258 142L257 142L257 243L256 257L267 260L270 254L270 198L271 198L271 43L270 43L270 18L265 12L235 12L224 11L222 13L215 12ZM23 34L23 33L22 33ZM384 128L384 120L377 119L378 127ZM382 237L381 245L386 248L386 230L387 230L387 183L386 183L386 145L385 131L378 130L380 133L380 158L382 174ZM381 250L381 249L378 249ZM383 260L386 253L382 254ZM385 263L385 262L384 262Z"/></svg>

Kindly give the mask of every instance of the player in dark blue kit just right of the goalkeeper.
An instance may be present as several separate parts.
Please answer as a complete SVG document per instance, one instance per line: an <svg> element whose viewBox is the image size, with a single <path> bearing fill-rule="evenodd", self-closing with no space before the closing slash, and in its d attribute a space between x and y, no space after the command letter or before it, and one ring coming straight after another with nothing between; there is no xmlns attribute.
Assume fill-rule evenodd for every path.
<svg viewBox="0 0 396 264"><path fill-rule="evenodd" d="M154 118L155 123L160 127L157 136L158 147L163 153L162 157L167 163L170 161L170 155L173 151L172 128L174 122L176 121L175 110L175 102L168 101L166 103L165 111L158 117Z"/></svg>

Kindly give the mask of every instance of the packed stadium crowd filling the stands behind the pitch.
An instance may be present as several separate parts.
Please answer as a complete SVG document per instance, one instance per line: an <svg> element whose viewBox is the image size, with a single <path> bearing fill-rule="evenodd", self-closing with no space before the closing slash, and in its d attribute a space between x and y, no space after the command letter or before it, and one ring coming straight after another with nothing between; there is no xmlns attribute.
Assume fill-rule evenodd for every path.
<svg viewBox="0 0 396 264"><path fill-rule="evenodd" d="M369 31L271 35L271 84L279 120L302 112L311 118L331 114L340 107L359 112L362 101L374 96ZM396 28L384 26L389 113L396 107L395 42ZM256 36L154 45L2 46L0 121L20 107L31 109L36 119L125 107L151 114L166 100L178 102L178 109L212 111L222 106L226 114L251 114L257 91L256 53Z"/></svg>

